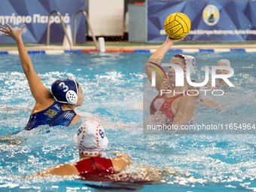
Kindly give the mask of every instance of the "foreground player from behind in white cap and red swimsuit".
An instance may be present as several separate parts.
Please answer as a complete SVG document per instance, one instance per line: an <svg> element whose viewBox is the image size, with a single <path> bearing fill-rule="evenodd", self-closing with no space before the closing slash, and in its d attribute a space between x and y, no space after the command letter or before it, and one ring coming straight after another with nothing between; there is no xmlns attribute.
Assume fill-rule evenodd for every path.
<svg viewBox="0 0 256 192"><path fill-rule="evenodd" d="M75 147L79 150L80 160L75 164L61 164L50 167L36 175L80 175L90 181L102 181L108 175L120 172L130 165L130 157L120 151L112 151L117 157L102 157L102 152L108 147L108 139L104 128L95 120L87 120L81 124L74 136Z"/></svg>

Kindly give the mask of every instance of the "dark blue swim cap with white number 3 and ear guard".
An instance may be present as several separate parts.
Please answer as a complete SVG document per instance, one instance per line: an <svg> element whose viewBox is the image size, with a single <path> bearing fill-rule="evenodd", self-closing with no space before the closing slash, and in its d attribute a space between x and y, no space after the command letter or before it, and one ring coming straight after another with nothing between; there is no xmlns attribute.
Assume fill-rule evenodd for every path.
<svg viewBox="0 0 256 192"><path fill-rule="evenodd" d="M78 102L78 86L72 79L58 79L51 85L51 91L57 102L76 104Z"/></svg>

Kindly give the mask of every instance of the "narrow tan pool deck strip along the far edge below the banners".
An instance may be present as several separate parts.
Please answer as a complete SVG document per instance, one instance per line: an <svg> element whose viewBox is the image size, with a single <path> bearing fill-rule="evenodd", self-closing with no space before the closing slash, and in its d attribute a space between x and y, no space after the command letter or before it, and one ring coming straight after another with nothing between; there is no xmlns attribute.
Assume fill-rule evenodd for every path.
<svg viewBox="0 0 256 192"><path fill-rule="evenodd" d="M156 50L160 44L153 43L133 43L129 41L105 42L105 50ZM45 46L44 44L26 44L27 50L96 50L93 42L88 41L86 44L78 46L62 47L61 44ZM172 49L256 49L256 42L230 42L230 43L177 43ZM15 44L0 44L0 51L17 50Z"/></svg>

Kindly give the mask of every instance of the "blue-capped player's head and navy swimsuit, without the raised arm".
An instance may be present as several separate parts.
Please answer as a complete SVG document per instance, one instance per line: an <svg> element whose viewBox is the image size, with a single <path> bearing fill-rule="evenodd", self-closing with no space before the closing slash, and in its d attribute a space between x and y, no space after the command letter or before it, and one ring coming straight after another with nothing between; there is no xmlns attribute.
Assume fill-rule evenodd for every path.
<svg viewBox="0 0 256 192"><path fill-rule="evenodd" d="M25 130L44 124L69 126L81 117L74 111L75 106L81 106L84 99L78 82L68 78L58 79L53 82L51 91L55 102L46 109L31 114Z"/></svg>

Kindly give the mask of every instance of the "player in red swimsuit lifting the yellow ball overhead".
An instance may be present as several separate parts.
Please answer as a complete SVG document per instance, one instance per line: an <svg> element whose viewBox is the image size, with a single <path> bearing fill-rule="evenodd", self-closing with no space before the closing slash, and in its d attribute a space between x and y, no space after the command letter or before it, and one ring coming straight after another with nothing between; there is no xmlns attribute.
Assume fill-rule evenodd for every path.
<svg viewBox="0 0 256 192"><path fill-rule="evenodd" d="M161 75L156 72L155 88L159 92L161 90L172 91L171 93L163 93L162 96L159 93L159 95L151 102L151 115L156 114L159 111L161 114L166 115L168 123L182 125L191 120L194 114L194 98L186 94L187 80L185 74L188 67L190 68L190 72L194 69L195 59L193 56L175 55L170 60L172 64L177 64L183 69L184 87L175 86L175 70L172 67L169 67L168 69L167 79L162 78L165 77L165 74L160 67L163 57L176 41L179 40L172 40L169 37L166 38L166 41L156 50L150 59L148 59L146 72L149 80L152 81L151 72L157 68ZM176 92L175 95L174 91Z"/></svg>

